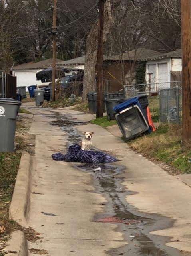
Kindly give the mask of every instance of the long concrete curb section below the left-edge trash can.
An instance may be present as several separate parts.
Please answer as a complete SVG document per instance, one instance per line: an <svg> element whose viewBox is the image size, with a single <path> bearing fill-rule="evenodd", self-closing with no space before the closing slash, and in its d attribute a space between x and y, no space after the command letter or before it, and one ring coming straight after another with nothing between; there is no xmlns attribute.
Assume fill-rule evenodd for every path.
<svg viewBox="0 0 191 256"><path fill-rule="evenodd" d="M32 157L27 152L23 152L9 209L10 219L26 228L30 206L31 166Z"/></svg>

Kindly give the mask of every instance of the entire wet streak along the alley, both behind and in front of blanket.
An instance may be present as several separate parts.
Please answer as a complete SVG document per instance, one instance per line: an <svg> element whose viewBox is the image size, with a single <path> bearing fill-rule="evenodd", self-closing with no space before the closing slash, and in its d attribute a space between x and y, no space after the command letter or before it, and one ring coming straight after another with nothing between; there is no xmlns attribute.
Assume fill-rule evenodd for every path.
<svg viewBox="0 0 191 256"><path fill-rule="evenodd" d="M57 121L51 122L52 125L62 127L63 131L69 134L67 139L69 145L82 140L82 136L78 134L74 126L85 124L86 122L75 122L74 119L59 114L49 117L57 119ZM149 234L152 230L171 227L173 223L171 219L146 213L140 214L137 212L137 215L132 213L135 212L135 209L128 205L125 197L135 193L128 191L121 185L124 179L122 175L126 167L116 165L116 163L72 163L72 165L77 169L91 173L96 193L102 194L107 199L107 203L102 204L104 206L104 213L97 214L94 221L116 224L116 230L123 233L124 240L128 243L121 248L109 251L110 255L181 255L175 248L165 246L165 243L169 242L169 237Z"/></svg>

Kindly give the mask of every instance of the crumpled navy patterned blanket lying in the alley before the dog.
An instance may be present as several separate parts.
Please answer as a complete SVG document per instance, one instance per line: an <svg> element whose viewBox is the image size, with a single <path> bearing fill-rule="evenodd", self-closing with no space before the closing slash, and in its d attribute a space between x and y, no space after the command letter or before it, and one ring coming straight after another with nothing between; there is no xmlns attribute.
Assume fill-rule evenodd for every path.
<svg viewBox="0 0 191 256"><path fill-rule="evenodd" d="M70 146L66 154L53 154L52 158L56 161L80 163L110 163L117 161L113 156L109 156L100 151L84 151L78 144Z"/></svg>

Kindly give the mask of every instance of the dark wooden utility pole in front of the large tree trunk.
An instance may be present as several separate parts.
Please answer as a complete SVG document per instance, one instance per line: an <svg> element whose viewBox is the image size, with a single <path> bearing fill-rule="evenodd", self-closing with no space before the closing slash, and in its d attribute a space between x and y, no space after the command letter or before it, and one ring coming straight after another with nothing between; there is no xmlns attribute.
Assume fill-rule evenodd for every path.
<svg viewBox="0 0 191 256"><path fill-rule="evenodd" d="M99 25L97 40L97 113L96 117L103 116L103 28L104 28L104 3L105 0L99 0Z"/></svg>

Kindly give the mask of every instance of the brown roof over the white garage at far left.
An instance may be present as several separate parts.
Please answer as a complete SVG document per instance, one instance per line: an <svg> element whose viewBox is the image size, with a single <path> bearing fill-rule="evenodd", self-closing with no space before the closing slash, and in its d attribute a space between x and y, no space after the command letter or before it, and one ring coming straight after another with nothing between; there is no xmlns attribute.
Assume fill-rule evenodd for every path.
<svg viewBox="0 0 191 256"><path fill-rule="evenodd" d="M60 59L56 59L56 62L62 61ZM13 70L22 70L22 69L44 69L44 65L52 64L52 59L46 59L44 61L39 62L28 62L18 66L15 66Z"/></svg>

